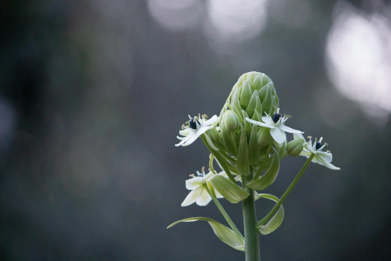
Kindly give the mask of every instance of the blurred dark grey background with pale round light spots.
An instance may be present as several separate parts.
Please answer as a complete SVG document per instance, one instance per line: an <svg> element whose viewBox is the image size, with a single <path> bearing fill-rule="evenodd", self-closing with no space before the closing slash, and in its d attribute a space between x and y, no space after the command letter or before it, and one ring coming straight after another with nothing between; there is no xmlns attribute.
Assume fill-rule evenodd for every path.
<svg viewBox="0 0 391 261"><path fill-rule="evenodd" d="M247 71L289 126L324 137L261 235L264 260L391 257L391 3L382 0L13 0L1 4L1 260L243 260L181 207L208 164L175 147L187 114L219 114ZM292 135L288 135L292 139ZM265 192L304 164L286 157ZM241 204L221 200L242 230ZM259 219L273 206L257 201Z"/></svg>

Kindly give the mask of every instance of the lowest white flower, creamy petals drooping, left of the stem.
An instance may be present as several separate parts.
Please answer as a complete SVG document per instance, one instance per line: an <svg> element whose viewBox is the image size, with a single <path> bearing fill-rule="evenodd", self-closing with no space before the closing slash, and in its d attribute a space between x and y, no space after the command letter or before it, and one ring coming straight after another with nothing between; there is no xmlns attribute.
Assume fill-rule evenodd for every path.
<svg viewBox="0 0 391 261"><path fill-rule="evenodd" d="M213 175L222 175L228 178L227 174L224 171L221 171L218 174L214 174L212 171L209 171L208 174L205 174L205 171L202 170L202 173L197 171L197 176L186 180L186 188L191 190L190 193L183 200L181 206L191 205L196 202L197 205L205 206L207 205L212 197L209 195L208 190L204 187L206 180ZM217 198L223 198L223 196L215 190Z"/></svg>

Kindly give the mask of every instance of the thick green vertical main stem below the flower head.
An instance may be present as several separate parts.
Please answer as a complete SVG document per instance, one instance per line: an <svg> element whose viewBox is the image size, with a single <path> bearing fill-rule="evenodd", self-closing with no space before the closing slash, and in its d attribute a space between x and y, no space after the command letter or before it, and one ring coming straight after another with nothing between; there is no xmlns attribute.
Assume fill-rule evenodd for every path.
<svg viewBox="0 0 391 261"><path fill-rule="evenodd" d="M246 184L252 179L251 175L242 175L242 187L250 195L243 202L243 225L245 238L245 256L246 261L260 261L259 252L259 232L257 225L257 214L255 212L254 191Z"/></svg>

